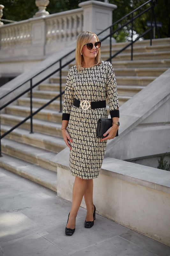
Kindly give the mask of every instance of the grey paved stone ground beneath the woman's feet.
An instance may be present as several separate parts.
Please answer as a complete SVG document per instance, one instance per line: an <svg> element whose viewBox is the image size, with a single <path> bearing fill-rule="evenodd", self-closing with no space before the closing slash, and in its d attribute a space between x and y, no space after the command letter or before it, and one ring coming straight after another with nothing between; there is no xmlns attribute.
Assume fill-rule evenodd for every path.
<svg viewBox="0 0 170 256"><path fill-rule="evenodd" d="M80 208L73 236L64 233L71 203L0 168L0 256L169 256L170 247L96 215L84 228Z"/></svg>

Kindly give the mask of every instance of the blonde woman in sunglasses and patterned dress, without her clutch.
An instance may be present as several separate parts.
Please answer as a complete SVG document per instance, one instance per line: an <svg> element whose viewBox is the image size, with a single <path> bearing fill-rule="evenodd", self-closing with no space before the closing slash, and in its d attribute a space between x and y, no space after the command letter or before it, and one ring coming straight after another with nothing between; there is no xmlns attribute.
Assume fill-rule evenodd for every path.
<svg viewBox="0 0 170 256"><path fill-rule="evenodd" d="M78 35L76 66L70 68L66 80L61 130L70 148L69 170L75 176L66 235L75 231L83 196L87 208L85 228L94 224L93 179L99 175L107 140L115 138L119 125L115 74L109 62L101 61L100 45L98 37L90 31ZM105 132L107 137L100 139L96 137L96 128L99 118L107 118L106 98L113 125Z"/></svg>

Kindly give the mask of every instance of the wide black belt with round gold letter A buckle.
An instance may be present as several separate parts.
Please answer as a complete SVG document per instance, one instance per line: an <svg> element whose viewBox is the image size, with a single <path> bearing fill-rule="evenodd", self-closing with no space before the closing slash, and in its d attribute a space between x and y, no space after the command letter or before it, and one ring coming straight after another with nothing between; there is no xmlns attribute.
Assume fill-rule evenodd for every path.
<svg viewBox="0 0 170 256"><path fill-rule="evenodd" d="M73 105L77 108L83 108L88 109L91 107L91 109L95 108L106 108L106 100L99 100L99 101L91 101L83 100L82 102L80 100L74 99Z"/></svg>

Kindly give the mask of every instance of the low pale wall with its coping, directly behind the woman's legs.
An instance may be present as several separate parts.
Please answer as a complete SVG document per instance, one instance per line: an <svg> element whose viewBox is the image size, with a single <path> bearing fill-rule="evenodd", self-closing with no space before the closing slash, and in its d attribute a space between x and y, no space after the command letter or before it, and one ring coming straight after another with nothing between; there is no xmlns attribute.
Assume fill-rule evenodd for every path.
<svg viewBox="0 0 170 256"><path fill-rule="evenodd" d="M69 149L51 161L57 166L57 195L71 201ZM97 213L170 246L170 172L105 158L93 181Z"/></svg>

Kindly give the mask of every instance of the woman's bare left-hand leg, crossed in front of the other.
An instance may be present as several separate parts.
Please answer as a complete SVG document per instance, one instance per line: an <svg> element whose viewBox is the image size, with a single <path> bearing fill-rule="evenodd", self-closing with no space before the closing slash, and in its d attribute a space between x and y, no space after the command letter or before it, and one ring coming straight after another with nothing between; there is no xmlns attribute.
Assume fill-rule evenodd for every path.
<svg viewBox="0 0 170 256"><path fill-rule="evenodd" d="M75 178L72 194L72 206L67 228L73 229L75 227L77 212L87 187L87 181L88 180L83 180L78 177Z"/></svg>

